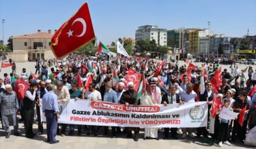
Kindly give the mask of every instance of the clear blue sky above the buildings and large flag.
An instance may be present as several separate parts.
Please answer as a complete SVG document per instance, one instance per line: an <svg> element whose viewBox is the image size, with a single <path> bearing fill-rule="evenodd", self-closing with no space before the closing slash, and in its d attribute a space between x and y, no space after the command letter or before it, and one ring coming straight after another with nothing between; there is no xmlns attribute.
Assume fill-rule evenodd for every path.
<svg viewBox="0 0 256 149"><path fill-rule="evenodd" d="M81 0L0 0L5 19L5 43L10 36L59 29L83 5ZM97 40L106 45L118 38L134 38L142 25L163 29L201 28L215 34L242 37L256 34L256 0L88 0ZM0 37L3 39L3 24ZM53 31L54 32L54 31Z"/></svg>

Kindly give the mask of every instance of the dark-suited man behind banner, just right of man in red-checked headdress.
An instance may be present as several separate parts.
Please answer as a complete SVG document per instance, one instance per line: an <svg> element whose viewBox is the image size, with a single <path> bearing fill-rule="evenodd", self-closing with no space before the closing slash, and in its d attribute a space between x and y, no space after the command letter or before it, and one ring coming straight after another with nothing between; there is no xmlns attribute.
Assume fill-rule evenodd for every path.
<svg viewBox="0 0 256 149"><path fill-rule="evenodd" d="M167 106L167 104L184 104L183 101L179 98L179 94L175 93L176 87L171 85L169 87L169 92L162 96L162 104ZM168 139L169 137L169 130L170 128L164 128L164 140ZM174 139L178 139L177 135L177 128L171 128L171 135Z"/></svg>

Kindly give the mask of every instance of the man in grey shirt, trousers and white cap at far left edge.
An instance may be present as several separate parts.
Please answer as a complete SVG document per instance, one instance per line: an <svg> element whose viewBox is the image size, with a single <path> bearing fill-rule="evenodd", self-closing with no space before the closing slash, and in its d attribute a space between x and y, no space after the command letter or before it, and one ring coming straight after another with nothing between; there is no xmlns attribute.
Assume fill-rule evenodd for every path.
<svg viewBox="0 0 256 149"><path fill-rule="evenodd" d="M1 119L3 129L7 133L5 136L6 139L10 137L10 119L14 124L14 135L19 136L18 133L18 121L16 113L19 111L19 104L16 93L12 91L12 86L10 84L6 84L4 91L0 93L0 105L1 105Z"/></svg>

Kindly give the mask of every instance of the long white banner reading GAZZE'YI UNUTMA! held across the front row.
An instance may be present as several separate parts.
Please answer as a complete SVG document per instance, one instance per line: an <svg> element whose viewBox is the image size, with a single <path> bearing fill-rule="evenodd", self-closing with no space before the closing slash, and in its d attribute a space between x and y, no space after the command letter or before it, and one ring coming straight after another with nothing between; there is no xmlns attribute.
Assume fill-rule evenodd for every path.
<svg viewBox="0 0 256 149"><path fill-rule="evenodd" d="M110 102L73 100L59 104L58 123L140 128L198 128L207 125L206 102L125 106ZM45 121L41 112L42 121Z"/></svg>

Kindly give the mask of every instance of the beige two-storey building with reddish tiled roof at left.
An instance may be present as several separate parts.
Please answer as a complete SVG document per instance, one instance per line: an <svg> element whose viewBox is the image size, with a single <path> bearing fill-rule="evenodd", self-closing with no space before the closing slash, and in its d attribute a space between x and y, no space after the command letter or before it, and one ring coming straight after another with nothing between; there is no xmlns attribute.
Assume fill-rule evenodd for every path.
<svg viewBox="0 0 256 149"><path fill-rule="evenodd" d="M38 32L12 37L13 52L8 53L8 58L16 62L45 60L55 58L51 51L51 30L48 32Z"/></svg>

